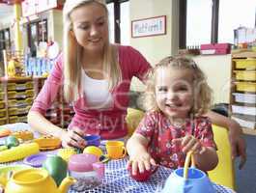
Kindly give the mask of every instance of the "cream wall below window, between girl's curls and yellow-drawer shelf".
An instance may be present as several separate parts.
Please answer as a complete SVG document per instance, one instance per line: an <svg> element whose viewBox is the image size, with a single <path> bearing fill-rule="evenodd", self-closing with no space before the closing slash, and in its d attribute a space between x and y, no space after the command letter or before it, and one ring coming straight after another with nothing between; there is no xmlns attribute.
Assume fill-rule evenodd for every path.
<svg viewBox="0 0 256 193"><path fill-rule="evenodd" d="M196 56L193 59L208 77L208 83L213 89L213 102L229 103L231 55Z"/></svg>

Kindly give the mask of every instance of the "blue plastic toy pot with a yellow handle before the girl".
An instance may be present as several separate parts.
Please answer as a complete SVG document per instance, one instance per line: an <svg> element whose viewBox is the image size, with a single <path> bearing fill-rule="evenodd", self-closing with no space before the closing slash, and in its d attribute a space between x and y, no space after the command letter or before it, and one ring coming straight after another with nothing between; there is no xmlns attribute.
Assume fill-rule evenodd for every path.
<svg viewBox="0 0 256 193"><path fill-rule="evenodd" d="M188 168L192 157L192 165ZM215 193L213 183L201 170L195 168L192 152L187 152L185 167L175 170L166 179L162 193Z"/></svg>

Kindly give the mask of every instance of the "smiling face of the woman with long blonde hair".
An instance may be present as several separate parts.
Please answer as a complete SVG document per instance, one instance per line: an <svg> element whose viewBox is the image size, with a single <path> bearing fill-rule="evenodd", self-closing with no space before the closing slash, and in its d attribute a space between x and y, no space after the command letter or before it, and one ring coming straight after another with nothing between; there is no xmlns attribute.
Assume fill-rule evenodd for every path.
<svg viewBox="0 0 256 193"><path fill-rule="evenodd" d="M108 20L105 9L90 3L71 12L72 32L86 51L102 51L108 41Z"/></svg>

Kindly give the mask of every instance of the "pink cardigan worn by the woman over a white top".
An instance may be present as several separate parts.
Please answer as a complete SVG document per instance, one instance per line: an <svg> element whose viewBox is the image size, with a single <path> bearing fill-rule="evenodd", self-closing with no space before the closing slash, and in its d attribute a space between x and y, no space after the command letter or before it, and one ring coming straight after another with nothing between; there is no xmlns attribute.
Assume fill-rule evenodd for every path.
<svg viewBox="0 0 256 193"><path fill-rule="evenodd" d="M143 80L151 66L136 49L123 45L119 45L119 64L123 80L111 91L112 107L104 110L90 109L86 97L81 96L72 103L75 114L69 128L77 126L86 134L100 134L102 139L122 138L128 134L126 116L131 78L136 76ZM63 68L63 55L61 54L30 111L37 111L44 115L53 104L63 85ZM97 88L92 89L97 90ZM56 108L61 108L61 106Z"/></svg>

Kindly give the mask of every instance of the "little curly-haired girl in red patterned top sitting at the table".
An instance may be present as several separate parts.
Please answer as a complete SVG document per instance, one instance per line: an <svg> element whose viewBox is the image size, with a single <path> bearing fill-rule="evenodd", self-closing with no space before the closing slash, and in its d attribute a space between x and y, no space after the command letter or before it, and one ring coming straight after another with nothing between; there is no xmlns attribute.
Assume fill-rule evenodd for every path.
<svg viewBox="0 0 256 193"><path fill-rule="evenodd" d="M167 57L149 73L145 117L128 139L128 166L136 175L157 164L184 166L185 153L194 152L196 167L217 165L209 110L212 91L196 64L185 57Z"/></svg>

